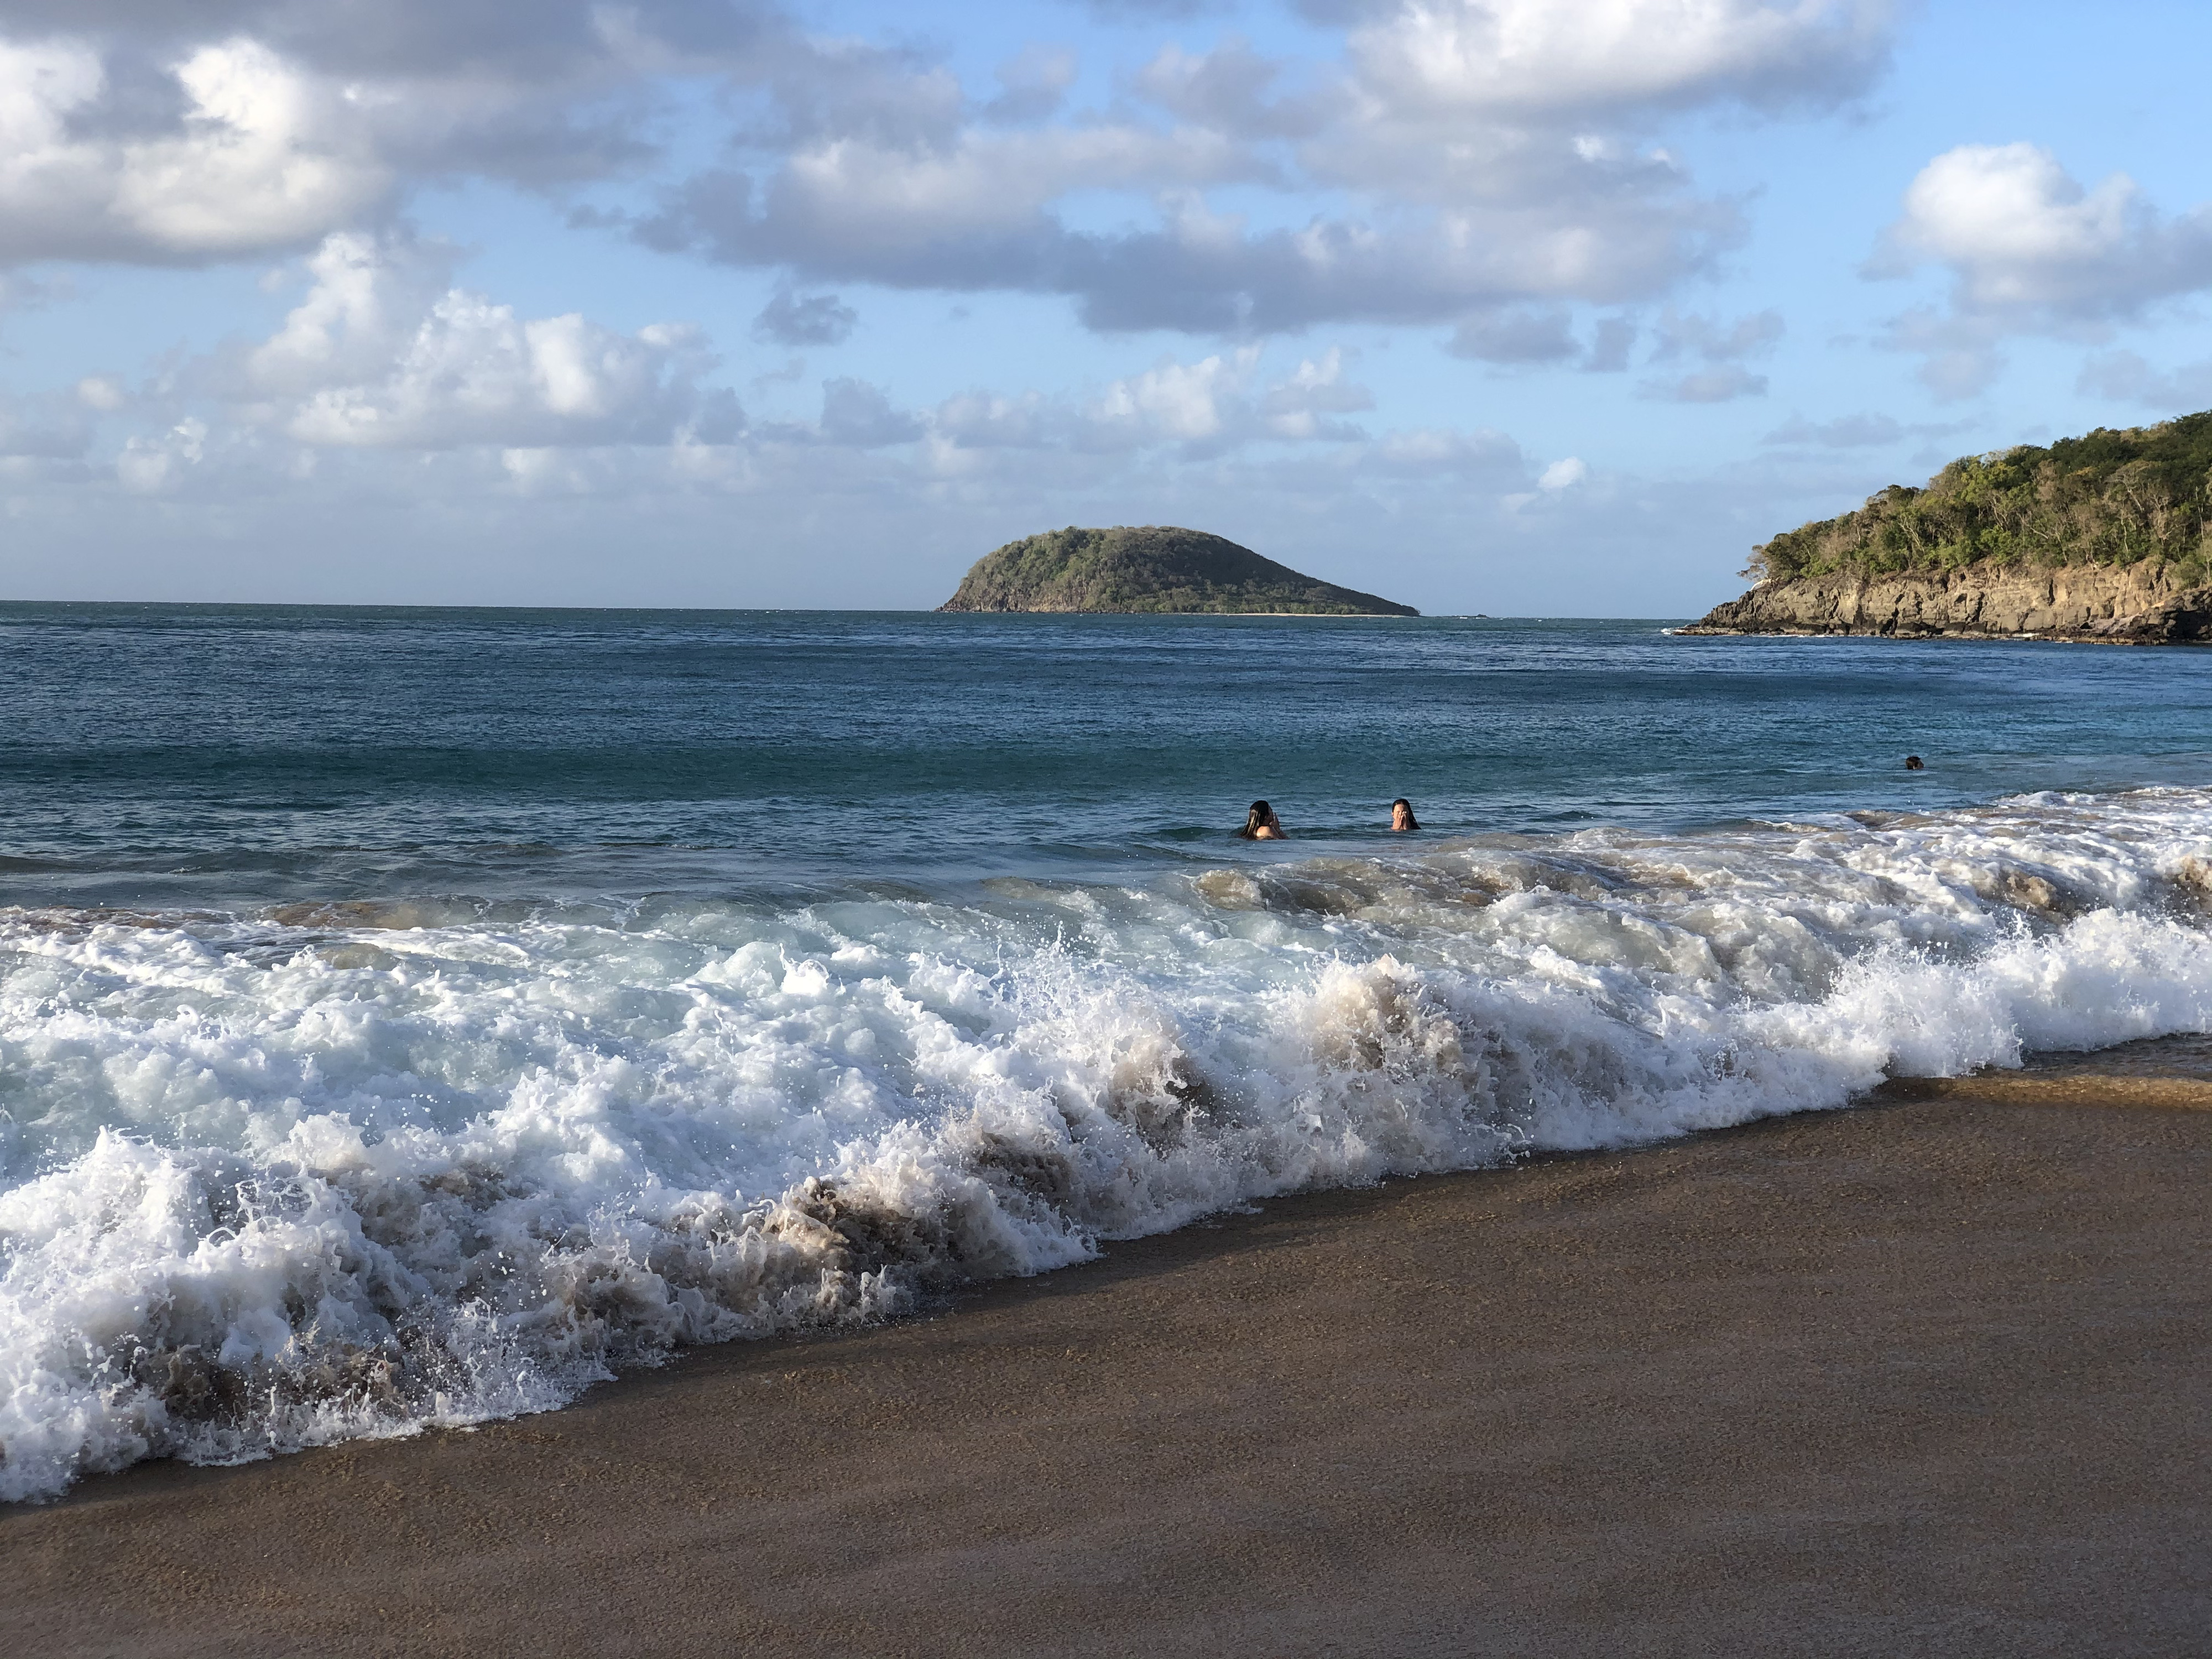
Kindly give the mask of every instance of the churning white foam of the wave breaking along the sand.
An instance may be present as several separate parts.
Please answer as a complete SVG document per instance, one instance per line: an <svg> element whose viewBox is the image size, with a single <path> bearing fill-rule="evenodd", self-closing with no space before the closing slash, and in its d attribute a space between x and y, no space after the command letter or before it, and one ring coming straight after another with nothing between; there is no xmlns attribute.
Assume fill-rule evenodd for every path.
<svg viewBox="0 0 2212 1659"><path fill-rule="evenodd" d="M0 916L0 1498L557 1407L1298 1188L2212 1029L2212 794L964 902Z"/></svg>

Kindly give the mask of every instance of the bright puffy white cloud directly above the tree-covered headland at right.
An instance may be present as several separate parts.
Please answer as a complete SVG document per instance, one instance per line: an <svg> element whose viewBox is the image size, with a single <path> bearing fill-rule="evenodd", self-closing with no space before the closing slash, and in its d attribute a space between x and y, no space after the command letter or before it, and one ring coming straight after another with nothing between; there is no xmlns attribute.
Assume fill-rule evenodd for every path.
<svg viewBox="0 0 2212 1659"><path fill-rule="evenodd" d="M1949 305L1907 310L1885 343L1962 398L1997 376L2008 334L2095 336L2212 288L2212 206L2166 217L2124 173L2084 188L2037 144L1962 144L1911 181L1867 274L1929 263L1951 274Z"/></svg>

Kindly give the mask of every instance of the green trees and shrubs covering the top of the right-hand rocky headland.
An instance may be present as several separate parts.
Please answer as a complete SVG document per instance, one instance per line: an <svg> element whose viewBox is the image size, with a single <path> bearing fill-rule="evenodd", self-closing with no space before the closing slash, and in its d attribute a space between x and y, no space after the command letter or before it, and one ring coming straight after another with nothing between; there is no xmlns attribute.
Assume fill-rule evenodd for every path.
<svg viewBox="0 0 2212 1659"><path fill-rule="evenodd" d="M1984 560L2166 560L2188 586L2212 580L2212 414L1964 456L1927 489L1891 484L1854 513L1776 535L1745 575L1942 573Z"/></svg>

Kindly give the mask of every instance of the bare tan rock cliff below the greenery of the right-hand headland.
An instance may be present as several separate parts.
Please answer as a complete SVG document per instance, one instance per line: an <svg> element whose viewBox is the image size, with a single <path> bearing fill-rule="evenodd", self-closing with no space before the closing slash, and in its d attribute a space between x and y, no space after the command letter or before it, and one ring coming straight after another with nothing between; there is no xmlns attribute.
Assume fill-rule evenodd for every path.
<svg viewBox="0 0 2212 1659"><path fill-rule="evenodd" d="M2166 560L2137 564L1966 564L1761 582L1681 633L1867 633L1896 639L2097 639L2212 644L2212 586L2183 586Z"/></svg>

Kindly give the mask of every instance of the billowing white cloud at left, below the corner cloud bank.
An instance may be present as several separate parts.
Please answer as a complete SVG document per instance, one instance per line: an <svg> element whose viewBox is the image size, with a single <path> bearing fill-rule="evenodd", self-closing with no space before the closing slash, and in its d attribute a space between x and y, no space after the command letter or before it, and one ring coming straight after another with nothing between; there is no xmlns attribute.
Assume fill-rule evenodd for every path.
<svg viewBox="0 0 2212 1659"><path fill-rule="evenodd" d="M712 356L690 325L520 319L449 285L449 268L436 246L330 237L307 296L217 383L250 418L321 447L557 449L739 422L728 394L701 392Z"/></svg>

